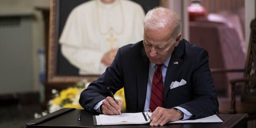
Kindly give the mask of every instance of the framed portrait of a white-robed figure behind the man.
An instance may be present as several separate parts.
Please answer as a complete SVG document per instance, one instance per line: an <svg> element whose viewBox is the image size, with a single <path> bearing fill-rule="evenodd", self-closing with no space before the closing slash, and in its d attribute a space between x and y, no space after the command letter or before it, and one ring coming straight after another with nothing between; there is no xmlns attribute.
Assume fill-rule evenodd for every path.
<svg viewBox="0 0 256 128"><path fill-rule="evenodd" d="M50 27L49 27L49 42L48 42L48 53L47 53L48 54L48 60L47 60L47 82L48 83L74 83L82 79L87 79L88 81L96 80L98 76L102 74L107 67L105 65L105 67L103 66L101 71L94 72L96 70L96 69L94 70L94 67L99 65L95 63L97 62L96 58L104 55L104 54L101 54L100 52L104 51L105 50L104 48L106 47L104 46L105 44L102 45L98 43L100 41L97 41L96 39L101 38L101 36L97 36L97 34L102 34L104 36L106 32L112 31L113 34L107 35L109 38L106 38L106 40L109 41L109 44L108 44L109 47L111 47L113 45L112 42L114 42L115 40L118 40L118 37L114 38L114 36L118 36L118 34L124 33L123 32L125 31L123 27L124 25L136 26L136 25L129 25L130 23L133 23L133 22L129 22L129 19L127 18L129 17L129 15L137 16L140 13L140 11L138 11L133 4L136 4L136 6L137 5L141 6L140 8L143 14L146 14L148 10L156 6L166 7L168 5L166 0L130 0L131 2L127 2L129 0L112 0L117 3L116 6L118 6L122 1L127 2L126 3L127 6L130 3L131 4L130 7L132 7L132 9L127 10L126 8L128 7L125 7L126 4L123 4L121 7L117 8L118 9L117 11L113 11L109 14L106 14L105 12L97 12L97 10L94 9L94 6L90 5L90 4L97 5L97 2L99 2L99 5L96 7L101 7L100 2L102 1L104 0L51 0L50 1ZM108 1L111 1L111 0L108 0ZM77 8L78 6L80 6L79 8L82 8L82 6L84 7L83 9L80 9L82 10L81 12L75 11L74 8ZM103 3L102 6L105 6L105 4ZM106 8L108 8L107 4L106 4ZM105 7L103 9L99 9L99 11L102 11L104 9ZM134 14L130 14L132 12ZM111 19L110 18L111 16L114 18L119 16L120 20L116 18L114 20L114 22L116 23L113 23L112 21L108 21L108 19ZM138 19L138 18L135 17L134 19ZM89 23L92 25L90 25ZM118 30L119 28L116 29L112 27L104 31L104 26L102 26L101 24L106 24L106 26L109 26L109 24L114 24L113 25L114 27L116 26L118 27L119 26L118 24L121 24L121 25L119 26L120 30ZM76 31L80 31L82 33L76 33ZM115 31L116 31L116 34L115 34ZM143 29L142 30L140 29L140 31L143 32ZM136 32L134 33L136 34ZM66 38L67 36L72 36L72 38L71 39ZM123 39L124 37L121 37L121 38ZM90 44L87 43L86 45L84 45L83 44L84 42L86 43L90 42ZM129 43L136 43L136 42L130 41ZM82 48L86 50L82 51ZM103 50L99 50L97 48L99 49L103 48ZM95 52L95 51L98 51L98 52ZM78 52L83 53L84 55L78 54ZM95 60L93 60L94 58ZM79 61L81 61L81 64ZM88 62L85 62L85 61L88 61ZM86 68L88 68L88 70ZM84 71L86 72L84 73Z"/></svg>

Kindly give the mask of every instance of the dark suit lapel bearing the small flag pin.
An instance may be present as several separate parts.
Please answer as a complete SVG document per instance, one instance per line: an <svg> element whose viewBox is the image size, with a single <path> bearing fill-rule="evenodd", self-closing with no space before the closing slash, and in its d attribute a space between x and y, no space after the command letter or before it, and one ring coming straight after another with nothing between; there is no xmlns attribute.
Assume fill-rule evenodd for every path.
<svg viewBox="0 0 256 128"><path fill-rule="evenodd" d="M185 43L183 40L180 41L179 45L176 46L174 51L172 52L172 56L170 62L168 64L168 68L166 71L166 76L164 80L164 100L166 98L166 94L170 90L170 84L174 80L180 65L182 64L182 55L184 54Z"/></svg>

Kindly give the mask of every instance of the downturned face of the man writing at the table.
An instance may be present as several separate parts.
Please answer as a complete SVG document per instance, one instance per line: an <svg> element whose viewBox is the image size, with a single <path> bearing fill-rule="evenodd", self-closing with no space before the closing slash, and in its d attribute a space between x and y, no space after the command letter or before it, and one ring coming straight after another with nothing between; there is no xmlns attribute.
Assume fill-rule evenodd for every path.
<svg viewBox="0 0 256 128"><path fill-rule="evenodd" d="M144 29L144 48L150 62L154 64L163 64L172 54L174 47L180 42L179 34L176 39L171 38L172 30Z"/></svg>

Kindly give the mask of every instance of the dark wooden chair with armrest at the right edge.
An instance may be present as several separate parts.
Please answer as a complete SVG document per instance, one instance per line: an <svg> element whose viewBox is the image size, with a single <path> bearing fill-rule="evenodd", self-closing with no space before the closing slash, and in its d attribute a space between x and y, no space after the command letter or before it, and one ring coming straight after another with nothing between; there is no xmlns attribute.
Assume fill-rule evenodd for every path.
<svg viewBox="0 0 256 128"><path fill-rule="evenodd" d="M243 71L244 78L232 79L231 84L231 100L219 100L219 113L247 113L248 119L256 119L256 19L250 24L251 34L246 57L246 67L244 70L222 70L211 69L211 73L220 72L237 72ZM237 60L240 61L240 60ZM237 84L243 83L243 84ZM243 86L240 100L236 99L236 88L238 85Z"/></svg>

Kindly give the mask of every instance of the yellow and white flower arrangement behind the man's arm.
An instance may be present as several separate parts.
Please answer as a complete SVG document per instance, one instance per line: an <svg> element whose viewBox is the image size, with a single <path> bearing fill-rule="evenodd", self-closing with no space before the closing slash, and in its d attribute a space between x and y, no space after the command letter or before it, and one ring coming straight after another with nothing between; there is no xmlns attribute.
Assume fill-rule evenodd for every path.
<svg viewBox="0 0 256 128"><path fill-rule="evenodd" d="M53 89L53 99L49 100L48 102L48 110L45 110L41 114L35 113L34 117L39 118L62 108L83 109L82 106L80 106L79 104L79 98L81 92L86 89L89 84L90 82L88 82L87 80L82 80L80 82L77 82L74 87L69 87L67 89L61 90L60 92ZM122 110L125 110L126 102L124 98L124 88L118 90L114 96L116 99L119 99L123 102L124 107L122 108Z"/></svg>

